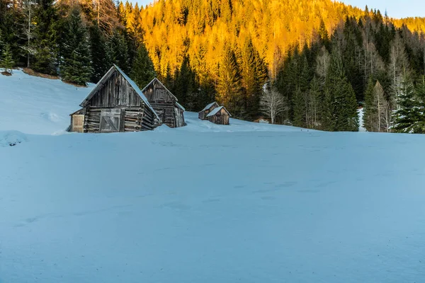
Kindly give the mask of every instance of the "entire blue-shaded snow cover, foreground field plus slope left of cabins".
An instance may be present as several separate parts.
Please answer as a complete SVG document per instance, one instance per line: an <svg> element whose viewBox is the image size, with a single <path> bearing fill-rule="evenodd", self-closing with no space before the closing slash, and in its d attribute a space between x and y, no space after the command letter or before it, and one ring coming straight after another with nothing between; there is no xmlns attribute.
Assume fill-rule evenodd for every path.
<svg viewBox="0 0 425 283"><path fill-rule="evenodd" d="M424 136L51 135L88 92L0 76L0 283L424 282Z"/></svg>

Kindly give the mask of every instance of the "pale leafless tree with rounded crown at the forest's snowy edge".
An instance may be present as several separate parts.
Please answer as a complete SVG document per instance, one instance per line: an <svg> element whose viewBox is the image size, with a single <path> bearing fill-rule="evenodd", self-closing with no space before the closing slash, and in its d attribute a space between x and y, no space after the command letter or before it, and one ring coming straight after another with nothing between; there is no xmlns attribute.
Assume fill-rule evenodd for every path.
<svg viewBox="0 0 425 283"><path fill-rule="evenodd" d="M264 115L271 117L271 123L274 124L276 116L288 109L285 97L278 93L275 88L263 89L263 96L260 100L260 110Z"/></svg>

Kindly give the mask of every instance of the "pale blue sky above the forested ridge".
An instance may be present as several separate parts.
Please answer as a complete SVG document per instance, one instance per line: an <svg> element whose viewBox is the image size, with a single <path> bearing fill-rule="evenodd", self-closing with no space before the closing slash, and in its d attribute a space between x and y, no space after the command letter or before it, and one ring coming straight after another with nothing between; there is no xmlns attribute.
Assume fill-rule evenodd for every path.
<svg viewBox="0 0 425 283"><path fill-rule="evenodd" d="M296 0L295 0L296 1ZM409 16L425 17L425 0L342 0L346 4L365 8L366 4L369 8L380 9L382 15L387 9L388 16L392 18L405 18ZM150 0L138 0L143 6L149 4Z"/></svg>

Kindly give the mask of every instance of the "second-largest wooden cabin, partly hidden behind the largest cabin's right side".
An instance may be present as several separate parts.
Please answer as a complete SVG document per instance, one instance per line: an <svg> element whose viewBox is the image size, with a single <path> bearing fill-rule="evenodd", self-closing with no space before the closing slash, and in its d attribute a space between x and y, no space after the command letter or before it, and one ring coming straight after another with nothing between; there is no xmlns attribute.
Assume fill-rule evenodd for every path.
<svg viewBox="0 0 425 283"><path fill-rule="evenodd" d="M171 128L183 127L184 108L177 101L176 96L169 91L159 79L155 78L142 89L152 108L157 112L160 123Z"/></svg>

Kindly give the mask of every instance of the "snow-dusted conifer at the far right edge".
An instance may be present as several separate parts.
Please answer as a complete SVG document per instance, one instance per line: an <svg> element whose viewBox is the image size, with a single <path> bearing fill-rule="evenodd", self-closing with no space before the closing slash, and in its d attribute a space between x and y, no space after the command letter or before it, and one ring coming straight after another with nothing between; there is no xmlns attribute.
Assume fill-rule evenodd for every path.
<svg viewBox="0 0 425 283"><path fill-rule="evenodd" d="M424 105L420 103L418 96L416 96L414 84L409 74L402 78L397 105L399 105L399 108L395 111L395 125L392 130L402 133L424 133Z"/></svg>

